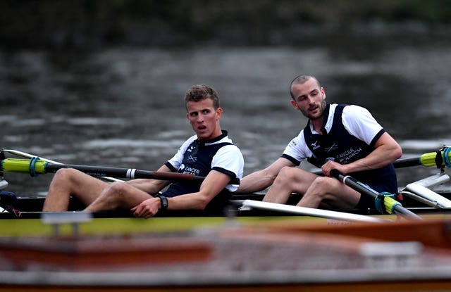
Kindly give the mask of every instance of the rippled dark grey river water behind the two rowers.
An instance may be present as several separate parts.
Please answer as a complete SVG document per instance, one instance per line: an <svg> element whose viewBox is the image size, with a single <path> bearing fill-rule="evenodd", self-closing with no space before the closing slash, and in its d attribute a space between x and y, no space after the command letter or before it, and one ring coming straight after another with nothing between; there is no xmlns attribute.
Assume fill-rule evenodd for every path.
<svg viewBox="0 0 451 292"><path fill-rule="evenodd" d="M383 48L0 51L0 147L62 163L156 170L192 134L184 94L205 83L221 96L221 127L249 174L276 160L307 122L288 92L304 73L319 78L330 103L368 108L410 157L451 143L450 49L442 39ZM398 178L402 185L434 172L412 167ZM5 174L17 193L45 192L51 176Z"/></svg>

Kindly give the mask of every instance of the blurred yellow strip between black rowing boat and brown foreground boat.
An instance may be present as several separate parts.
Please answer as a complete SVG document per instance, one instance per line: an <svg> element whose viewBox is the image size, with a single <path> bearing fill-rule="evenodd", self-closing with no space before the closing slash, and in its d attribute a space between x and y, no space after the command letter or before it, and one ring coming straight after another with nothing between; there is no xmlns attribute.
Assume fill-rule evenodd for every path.
<svg viewBox="0 0 451 292"><path fill-rule="evenodd" d="M40 218L0 220L0 236L69 236L76 232L80 235L92 234L136 234L149 232L179 232L195 228L215 228L226 226L252 226L264 222L320 222L340 224L338 220L327 220L309 216L241 216L229 218L214 217L152 217L148 220L134 217L94 217L89 222L77 225L63 223L46 224ZM343 223L347 224L347 223Z"/></svg>

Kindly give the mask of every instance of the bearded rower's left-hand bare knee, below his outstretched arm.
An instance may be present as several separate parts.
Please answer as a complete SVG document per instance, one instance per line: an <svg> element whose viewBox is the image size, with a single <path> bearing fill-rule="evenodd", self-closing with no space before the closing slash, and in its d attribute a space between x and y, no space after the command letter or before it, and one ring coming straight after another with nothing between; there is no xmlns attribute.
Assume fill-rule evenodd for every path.
<svg viewBox="0 0 451 292"><path fill-rule="evenodd" d="M283 167L263 201L285 204L291 193L305 193L316 177L316 174L299 168Z"/></svg>

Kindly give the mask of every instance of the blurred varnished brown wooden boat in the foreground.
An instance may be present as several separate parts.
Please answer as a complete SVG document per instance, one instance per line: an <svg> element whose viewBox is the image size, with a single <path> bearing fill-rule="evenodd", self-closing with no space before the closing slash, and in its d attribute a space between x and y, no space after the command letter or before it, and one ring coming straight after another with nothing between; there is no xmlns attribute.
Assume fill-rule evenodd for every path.
<svg viewBox="0 0 451 292"><path fill-rule="evenodd" d="M43 250L29 248L21 263L34 260L32 268L18 265L18 258L8 269L8 265L0 265L0 291L448 291L448 226L449 221L436 217L427 217L425 222L383 224L260 222L175 235L184 243L194 240L210 245L211 250L207 244L206 253L194 260L188 256L190 248L175 246L166 260L149 257L143 262L146 255L142 255L137 267L102 267L101 261L94 260L94 266L89 267L89 262L80 259L112 256L99 248L97 234L94 239L79 239L96 243L90 249L89 245L79 246L73 251L64 241L65 248L59 248L56 255L47 255L45 245ZM162 244L165 239L173 239L167 233L147 236L149 253L167 247ZM130 238L121 237L119 240L128 243L122 246L137 246L130 244ZM154 246L156 250L152 250L152 238L161 243ZM49 238L51 243L56 241ZM15 242L18 248L20 241ZM9 253L8 239L0 239L0 243L4 243L0 244L3 258L18 256ZM24 246L30 246L29 239L23 240ZM5 247L6 251L1 250ZM92 250L97 251L94 254ZM40 256L43 253L47 256ZM44 265L61 255L66 255L67 262ZM120 255L116 261L121 262Z"/></svg>

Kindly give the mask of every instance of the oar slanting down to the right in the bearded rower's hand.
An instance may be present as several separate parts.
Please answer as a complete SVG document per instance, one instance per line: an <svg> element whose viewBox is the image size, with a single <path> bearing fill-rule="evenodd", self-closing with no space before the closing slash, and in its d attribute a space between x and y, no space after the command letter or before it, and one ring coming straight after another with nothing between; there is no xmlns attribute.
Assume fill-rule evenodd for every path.
<svg viewBox="0 0 451 292"><path fill-rule="evenodd" d="M421 217L416 215L414 212L409 211L406 208L402 207L402 205L395 199L390 198L390 196L385 196L383 193L378 193L377 191L371 189L366 184L357 181L357 179L354 179L349 175L342 174L338 170L330 170L330 176L335 177L343 184L346 184L347 186L350 186L352 189L358 191L359 193L362 193L362 196L371 197L373 201L375 201L375 205L378 210L379 210L377 205L378 201L383 200L383 205L385 206L386 212L390 214L395 213L397 215L401 215L406 219L422 220Z"/></svg>

